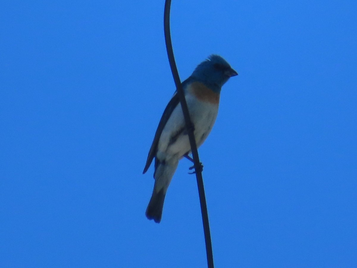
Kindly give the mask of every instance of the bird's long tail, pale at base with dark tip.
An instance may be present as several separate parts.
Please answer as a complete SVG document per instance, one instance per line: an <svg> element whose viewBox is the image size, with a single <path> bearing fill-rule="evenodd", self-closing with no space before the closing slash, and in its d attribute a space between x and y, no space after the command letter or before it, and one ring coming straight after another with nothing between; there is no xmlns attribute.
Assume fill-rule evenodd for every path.
<svg viewBox="0 0 357 268"><path fill-rule="evenodd" d="M166 191L176 171L177 165L178 161L170 164L161 162L156 166L154 173L154 190L152 191L152 196L145 213L149 220L153 219L156 223L161 221Z"/></svg>

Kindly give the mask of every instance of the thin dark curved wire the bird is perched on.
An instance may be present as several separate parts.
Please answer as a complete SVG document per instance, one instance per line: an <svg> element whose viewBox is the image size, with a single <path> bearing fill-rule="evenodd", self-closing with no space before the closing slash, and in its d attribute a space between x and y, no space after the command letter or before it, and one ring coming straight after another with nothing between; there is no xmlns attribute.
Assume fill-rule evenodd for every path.
<svg viewBox="0 0 357 268"><path fill-rule="evenodd" d="M169 57L172 76L174 76L174 81L177 88L177 94L180 98L182 113L183 113L183 117L185 118L186 128L188 132L188 139L190 140L190 145L191 145L193 164L195 165L198 195L200 197L200 204L201 204L203 232L205 234L205 242L206 242L207 265L208 268L213 268L212 242L211 242L210 224L208 222L205 189L203 187L203 179L201 173L202 166L200 163L200 159L198 157L196 140L195 137L193 136L194 126L192 125L190 114L188 113L185 95L183 93L180 77L178 76L178 71L175 63L174 51L172 50L171 34L170 34L170 7L171 7L171 0L165 0L164 33L165 33L166 50L167 50L167 56Z"/></svg>

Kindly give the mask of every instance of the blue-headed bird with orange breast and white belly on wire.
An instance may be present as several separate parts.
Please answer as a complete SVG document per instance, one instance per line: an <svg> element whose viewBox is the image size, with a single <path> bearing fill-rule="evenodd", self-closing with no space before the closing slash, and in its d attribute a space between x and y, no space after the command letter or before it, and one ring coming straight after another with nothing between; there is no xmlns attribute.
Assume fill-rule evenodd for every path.
<svg viewBox="0 0 357 268"><path fill-rule="evenodd" d="M197 65L193 73L182 82L197 148L206 140L216 121L223 84L236 75L238 73L225 59L213 54ZM147 172L155 158L154 189L145 214L156 223L161 222L165 195L178 162L191 152L179 103L175 91L161 116L143 171L143 174Z"/></svg>

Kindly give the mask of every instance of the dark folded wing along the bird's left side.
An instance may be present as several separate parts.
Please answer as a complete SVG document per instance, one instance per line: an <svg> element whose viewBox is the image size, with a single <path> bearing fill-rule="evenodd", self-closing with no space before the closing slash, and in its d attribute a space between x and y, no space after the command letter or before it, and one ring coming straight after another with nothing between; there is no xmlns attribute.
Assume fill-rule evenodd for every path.
<svg viewBox="0 0 357 268"><path fill-rule="evenodd" d="M186 85L190 82L190 78L186 79L185 81L182 82L182 88L185 89ZM164 130L165 125L167 123L167 120L169 120L172 111L176 108L176 106L180 103L180 98L178 98L177 91L175 91L174 96L172 96L171 100L167 104L164 113L161 116L160 123L157 126L156 133L154 140L152 141L151 148L149 150L149 154L147 155L147 160L145 164L144 171L142 172L143 174L147 172L149 169L152 159L154 159L156 152L157 152L157 145L159 144L159 140L161 137L162 130Z"/></svg>

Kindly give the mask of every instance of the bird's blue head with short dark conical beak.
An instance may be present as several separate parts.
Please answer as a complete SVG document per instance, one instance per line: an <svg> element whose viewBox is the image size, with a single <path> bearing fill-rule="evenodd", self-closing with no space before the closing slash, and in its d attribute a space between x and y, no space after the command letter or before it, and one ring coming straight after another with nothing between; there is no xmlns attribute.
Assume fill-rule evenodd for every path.
<svg viewBox="0 0 357 268"><path fill-rule="evenodd" d="M238 75L238 73L231 68L225 59L218 55L211 55L196 67L191 77L220 93L222 85L235 75Z"/></svg>

